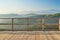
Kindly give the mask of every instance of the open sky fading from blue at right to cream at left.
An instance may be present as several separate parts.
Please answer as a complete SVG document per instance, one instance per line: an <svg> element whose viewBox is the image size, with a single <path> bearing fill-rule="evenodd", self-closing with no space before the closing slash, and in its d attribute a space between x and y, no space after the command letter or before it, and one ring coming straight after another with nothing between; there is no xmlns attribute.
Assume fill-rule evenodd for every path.
<svg viewBox="0 0 60 40"><path fill-rule="evenodd" d="M60 10L60 0L0 0L0 14Z"/></svg>

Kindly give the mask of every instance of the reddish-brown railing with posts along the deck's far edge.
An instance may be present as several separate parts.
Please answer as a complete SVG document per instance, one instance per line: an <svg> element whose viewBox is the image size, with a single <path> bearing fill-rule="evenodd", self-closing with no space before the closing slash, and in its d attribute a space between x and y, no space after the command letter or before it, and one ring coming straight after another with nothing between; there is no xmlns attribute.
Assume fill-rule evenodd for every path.
<svg viewBox="0 0 60 40"><path fill-rule="evenodd" d="M27 30L29 30L29 25L41 25L41 27L42 27L42 29L41 30L44 30L44 27L45 27L45 25L58 25L58 30L60 30L60 18L0 18L0 20L3 20L4 21L4 19L11 19L11 23L0 23L0 25L11 25L12 26L12 31L14 31L14 25L27 25ZM20 23L22 23L22 22L19 22L19 23L15 23L15 19L19 19L19 20L26 20L26 23L23 23L23 24L20 24ZM30 23L30 20L36 20L36 19L38 19L39 21L38 21L38 23L37 24L31 24ZM40 20L41 19L41 20ZM45 23L45 21L46 20L58 20L58 23L56 24L56 23L53 23L53 24L48 24L48 23ZM6 20L6 21L8 21L8 20ZM41 22L41 23L40 23ZM19 29L18 29L19 30Z"/></svg>

